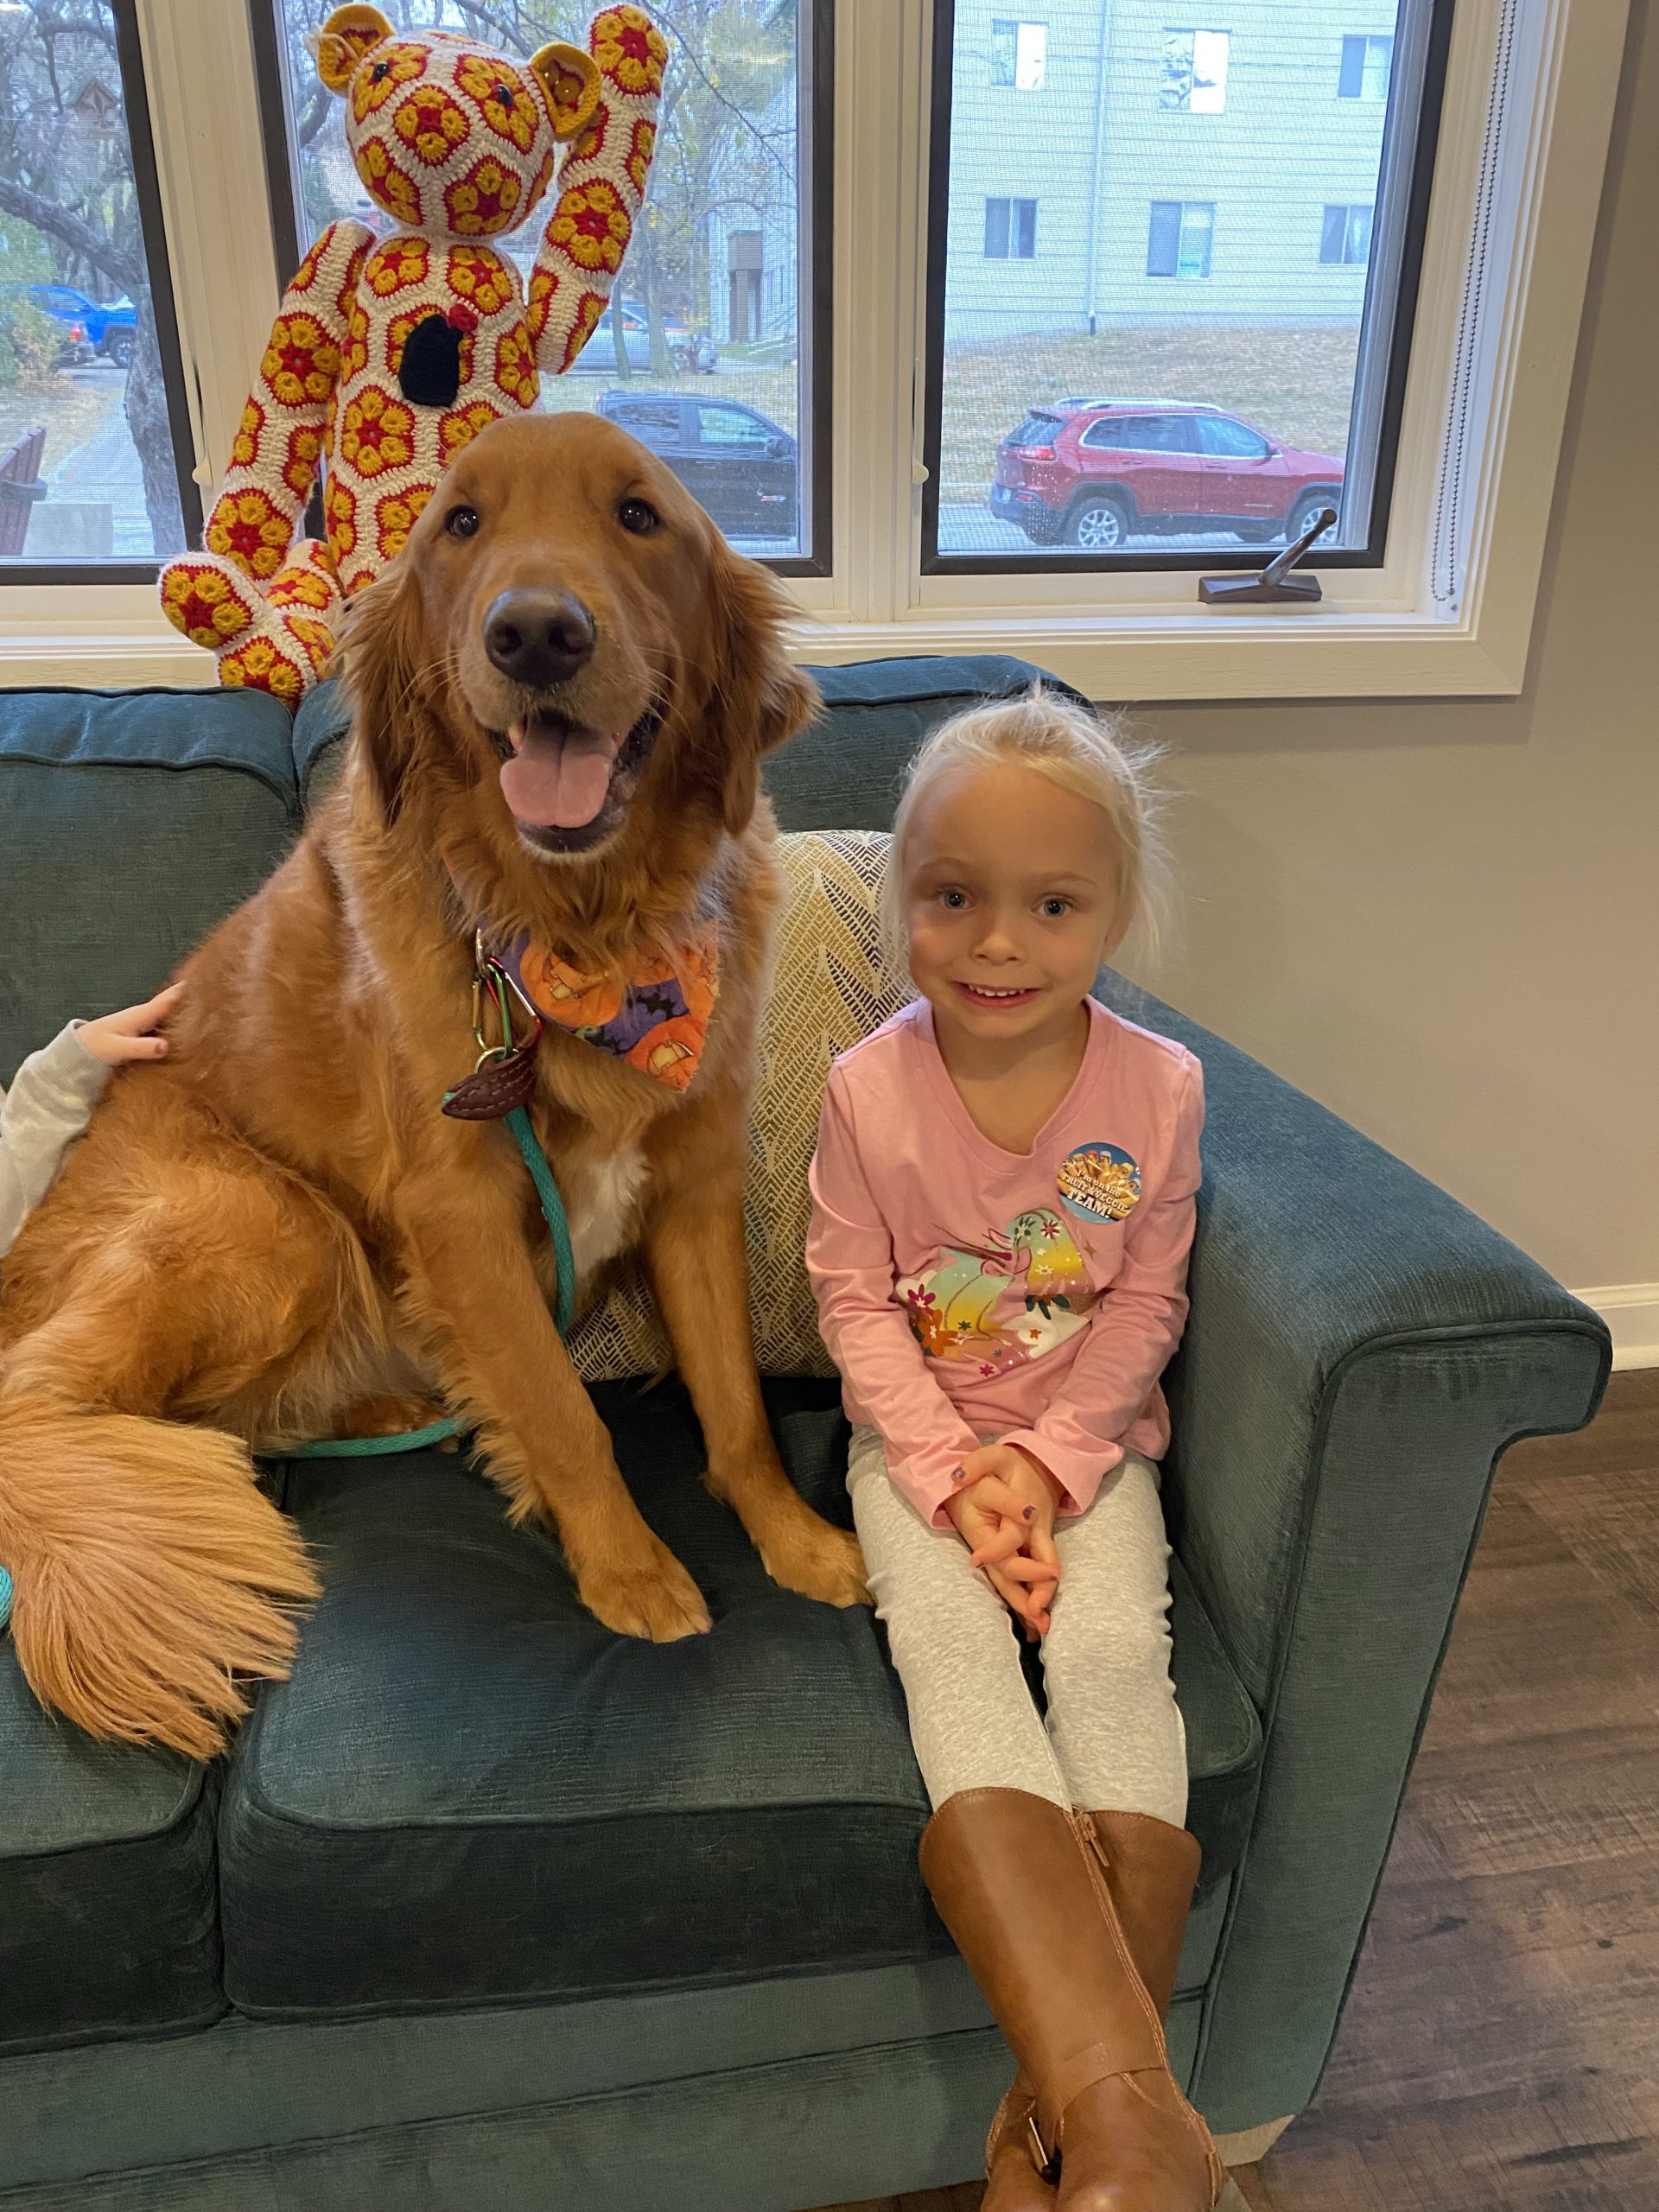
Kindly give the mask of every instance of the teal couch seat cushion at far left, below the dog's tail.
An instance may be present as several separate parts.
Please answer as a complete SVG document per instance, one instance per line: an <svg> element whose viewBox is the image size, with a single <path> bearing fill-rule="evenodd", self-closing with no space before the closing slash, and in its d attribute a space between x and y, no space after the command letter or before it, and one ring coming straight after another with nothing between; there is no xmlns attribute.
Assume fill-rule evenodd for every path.
<svg viewBox="0 0 1659 2212"><path fill-rule="evenodd" d="M212 1820L204 1767L51 1721L0 1637L0 2051L223 2011Z"/></svg>

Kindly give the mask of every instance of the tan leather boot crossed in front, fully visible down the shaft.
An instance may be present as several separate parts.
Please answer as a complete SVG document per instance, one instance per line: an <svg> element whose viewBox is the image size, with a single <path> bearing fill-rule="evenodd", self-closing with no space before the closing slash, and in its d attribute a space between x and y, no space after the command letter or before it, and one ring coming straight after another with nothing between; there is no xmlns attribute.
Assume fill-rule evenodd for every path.
<svg viewBox="0 0 1659 2212"><path fill-rule="evenodd" d="M1099 1851L1088 1814L967 1790L929 1820L920 1863L1035 2088L1033 2163L1060 2163L1060 2212L1212 2212L1225 2170L1170 2075Z"/></svg>

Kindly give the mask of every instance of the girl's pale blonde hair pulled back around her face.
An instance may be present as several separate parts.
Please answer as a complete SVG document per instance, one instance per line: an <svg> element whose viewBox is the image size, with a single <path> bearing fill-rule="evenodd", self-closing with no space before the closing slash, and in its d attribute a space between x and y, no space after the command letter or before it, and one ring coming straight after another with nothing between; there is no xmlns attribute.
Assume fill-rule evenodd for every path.
<svg viewBox="0 0 1659 2212"><path fill-rule="evenodd" d="M1170 854L1164 841L1164 792L1152 781L1155 745L1124 734L1121 717L1097 712L1064 692L1033 684L1018 699L989 699L951 714L927 737L905 772L894 814L894 843L880 887L880 927L889 953L905 960L905 838L920 794L947 768L1013 763L1048 776L1064 792L1099 807L1117 847L1115 931L1141 925L1146 951L1157 951L1168 911Z"/></svg>

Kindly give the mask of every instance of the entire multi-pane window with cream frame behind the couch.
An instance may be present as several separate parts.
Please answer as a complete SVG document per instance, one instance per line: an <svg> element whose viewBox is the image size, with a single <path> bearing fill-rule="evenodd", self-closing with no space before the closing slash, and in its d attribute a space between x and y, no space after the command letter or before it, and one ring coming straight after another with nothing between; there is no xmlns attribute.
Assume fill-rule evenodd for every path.
<svg viewBox="0 0 1659 2212"><path fill-rule="evenodd" d="M31 24L53 27L66 111L86 91L75 113L86 137L111 126L119 88L133 186L113 204L137 199L142 215L161 358L150 389L164 394L161 416L177 427L173 480L186 538L195 526L190 460L210 491L230 456L279 279L299 263L299 226L310 237L316 215L327 212L307 208L305 195L327 181L338 106L321 95L299 33L330 4L0 0L0 82L9 95L0 184L15 186L22 175L15 126L27 58L15 55L18 42L35 35ZM580 35L586 20L555 13L553 0L380 7L425 27L489 20L535 38L544 24ZM697 495L737 544L790 577L790 595L816 624L801 637L814 659L1020 653L1102 699L1513 692L1526 664L1626 11L1601 0L1537 9L1458 0L1455 40L1453 0L1345 0L1343 9L1274 0L1272 11L1250 11L1250 22L1212 15L1248 44L1234 53L1230 40L1228 102L1206 128L1192 111L1161 111L1155 93L1166 38L1183 29L1172 0L1157 9L1150 0L1073 7L1064 66L1057 60L1046 75L1044 51L1042 97L1029 102L991 82L993 22L1020 20L1004 7L664 7L681 49L690 24L672 82L695 80L710 53L717 62L721 97L708 84L703 106L686 93L688 115L692 124L714 108L726 115L714 131L726 148L721 190L741 190L712 206L681 175L675 192L664 192L668 237L657 276L681 268L695 281L681 290L664 281L650 296L644 263L630 261L624 290L635 330L624 356L613 341L604 361L604 334L595 336L582 374L549 387L544 405L613 411L684 398L681 436L661 447L664 458L688 482L699 480ZM1270 31L1252 29L1267 13ZM111 22L122 64L115 80L104 69ZM135 73L139 24L148 86ZM1354 104L1334 115L1345 31L1394 38L1391 49L1367 44L1347 60L1345 97ZM95 66L69 84L88 33L97 33ZM785 46L792 131L785 100L757 100L750 73L768 55L781 60ZM1035 55L1029 62L1035 73ZM1013 69L1018 75L1018 31ZM830 175L832 77L852 155L838 177ZM734 88L739 115L721 106ZM1029 126L1033 115L1040 131ZM250 161L261 124L263 175ZM714 139L703 133L697 146ZM119 142L100 144L119 157ZM748 168L734 164L732 144L750 148ZM695 150L668 117L664 148L672 146ZM1223 157L1225 170L1214 166ZM71 166L22 181L51 199L60 186L69 190ZM349 175L338 181L354 186ZM832 188L845 248L834 272ZM1002 195L1042 197L1042 254L1033 234L1033 257L1018 274L1011 259L984 257L984 201ZM1199 199L1225 208L1212 274L1150 276L1152 201L1179 208ZM794 226L785 232L779 215L790 204ZM1321 263L1325 204L1374 210L1369 259ZM706 221L688 241L684 223L697 210ZM1018 243L1013 219L1011 232ZM7 210L0 234L0 254L15 250ZM1175 252L1179 263L1179 228ZM119 292L119 283L88 283L55 250L40 272L11 281L77 290L95 305ZM664 338L668 372L653 367L653 345ZM113 378L111 369L95 374ZM73 392L73 372L51 389ZM15 409L15 398L0 378L0 405ZM765 453L703 445L690 409L721 398L776 422L776 442ZM1225 518L1217 502L1203 529L1190 513L1183 529L1166 529L1137 500L1130 520L1141 526L1097 529L1088 544L1073 542L1064 502L1044 504L1048 495L1022 471L1064 484L1091 460L1079 462L1086 425L1175 416L1177 403L1197 422L1201 453L1166 462L1144 451L1130 467L1141 484L1161 469L1197 473L1206 495L1225 473ZM847 489L834 531L832 418L836 480ZM1210 453L1203 425L1223 418L1261 434L1272 456ZM155 414L144 420L148 451L166 460L155 422ZM104 449L122 434L115 422ZM51 440L44 453L49 480ZM1093 465L1117 467L1117 456L1095 453ZM1254 480L1274 482L1292 467L1316 476L1316 491L1340 487L1338 542L1325 540L1318 553L1318 568L1334 575L1327 604L1294 619L1276 619L1272 608L1248 617L1201 608L1192 575L1179 571L1259 566L1263 542L1283 540L1279 518L1252 513L1248 493ZM0 511L9 502L15 495L0 493ZM51 500L22 504L33 526ZM0 684L210 681L204 655L161 619L148 564L119 557L119 513L115 524L108 566L31 568L24 555L0 571ZM64 582L75 588L64 591Z"/></svg>

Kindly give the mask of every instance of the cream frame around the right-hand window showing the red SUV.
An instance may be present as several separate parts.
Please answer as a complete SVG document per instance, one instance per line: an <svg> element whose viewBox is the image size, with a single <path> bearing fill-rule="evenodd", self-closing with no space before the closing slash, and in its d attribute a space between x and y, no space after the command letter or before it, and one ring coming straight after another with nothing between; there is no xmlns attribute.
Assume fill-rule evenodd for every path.
<svg viewBox="0 0 1659 2212"><path fill-rule="evenodd" d="M1482 201L1506 24L1511 126ZM841 0L836 560L825 599L814 595L803 657L1015 653L1093 699L1135 701L1517 692L1624 29L1624 0L1460 0L1389 560L1314 564L1325 591L1316 608L1245 611L1199 606L1188 571L920 575L929 7ZM1491 312L1467 327L1478 217ZM1453 420L1464 431L1455 562L1442 460L1458 442Z"/></svg>

